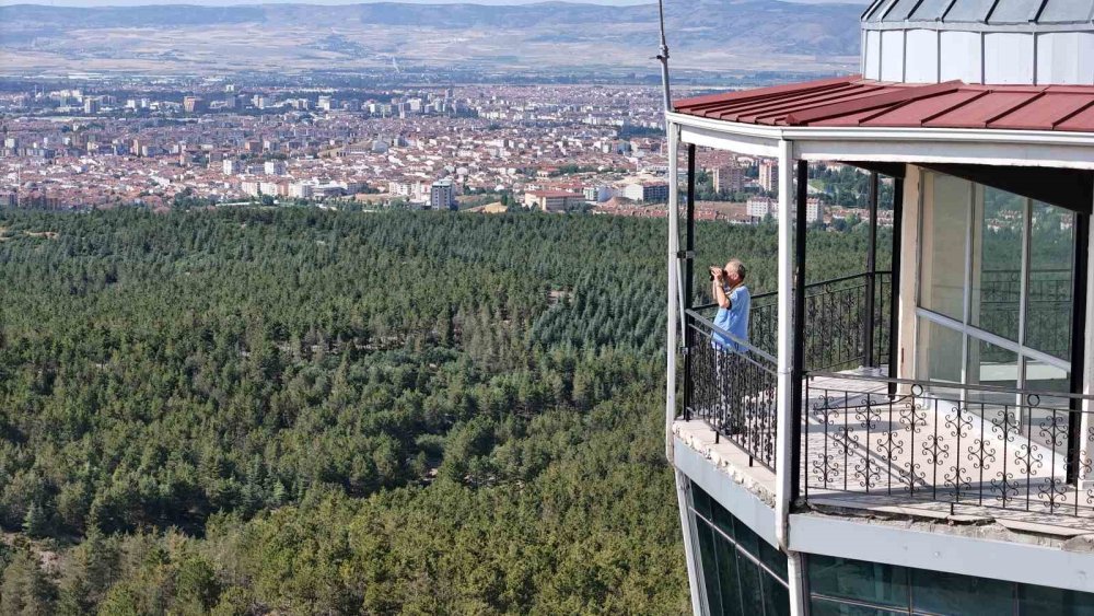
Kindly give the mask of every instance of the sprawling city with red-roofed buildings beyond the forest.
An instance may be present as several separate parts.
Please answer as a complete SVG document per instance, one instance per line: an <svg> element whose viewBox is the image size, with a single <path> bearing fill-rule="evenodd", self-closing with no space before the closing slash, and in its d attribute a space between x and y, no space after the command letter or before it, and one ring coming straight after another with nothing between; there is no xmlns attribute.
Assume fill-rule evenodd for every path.
<svg viewBox="0 0 1094 616"><path fill-rule="evenodd" d="M288 90L221 80L0 91L0 206L315 205L660 217L661 94L625 85ZM775 161L700 150L697 218L778 216ZM827 177L846 177L838 164ZM866 218L810 186L811 223ZM878 221L889 222L887 211Z"/></svg>

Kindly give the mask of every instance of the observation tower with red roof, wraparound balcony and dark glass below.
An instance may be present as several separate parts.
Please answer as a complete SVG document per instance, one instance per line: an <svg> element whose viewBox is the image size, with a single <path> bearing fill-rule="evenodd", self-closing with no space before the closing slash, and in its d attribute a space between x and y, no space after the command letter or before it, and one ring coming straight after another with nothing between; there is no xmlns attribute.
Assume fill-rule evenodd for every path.
<svg viewBox="0 0 1094 616"><path fill-rule="evenodd" d="M1092 13L876 0L861 75L667 112L670 177L696 147L767 158L794 212L734 339L695 301L694 175L670 194L665 438L695 614L1094 614ZM813 263L817 161L870 174L858 274Z"/></svg>

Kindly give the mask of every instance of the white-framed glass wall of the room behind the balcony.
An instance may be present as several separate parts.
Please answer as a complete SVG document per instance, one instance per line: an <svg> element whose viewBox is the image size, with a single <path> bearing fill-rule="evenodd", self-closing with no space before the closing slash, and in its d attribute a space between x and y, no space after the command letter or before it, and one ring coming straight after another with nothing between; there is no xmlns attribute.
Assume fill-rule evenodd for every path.
<svg viewBox="0 0 1094 616"><path fill-rule="evenodd" d="M1078 214L934 172L923 195L917 376L1067 391Z"/></svg>

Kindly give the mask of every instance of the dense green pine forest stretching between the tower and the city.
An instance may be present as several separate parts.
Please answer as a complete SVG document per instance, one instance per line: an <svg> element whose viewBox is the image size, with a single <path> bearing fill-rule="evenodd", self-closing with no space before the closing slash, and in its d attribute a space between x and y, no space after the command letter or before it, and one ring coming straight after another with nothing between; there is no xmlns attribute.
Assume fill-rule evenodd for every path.
<svg viewBox="0 0 1094 616"><path fill-rule="evenodd" d="M686 612L665 231L0 210L2 611ZM773 229L699 237L773 288Z"/></svg>

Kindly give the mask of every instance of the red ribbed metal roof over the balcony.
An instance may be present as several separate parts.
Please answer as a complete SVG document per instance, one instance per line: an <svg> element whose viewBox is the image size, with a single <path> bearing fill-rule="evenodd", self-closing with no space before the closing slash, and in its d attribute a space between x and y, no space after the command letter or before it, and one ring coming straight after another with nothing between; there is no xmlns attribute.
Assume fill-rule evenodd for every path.
<svg viewBox="0 0 1094 616"><path fill-rule="evenodd" d="M696 96L677 101L675 111L767 126L1094 132L1094 86L906 84L854 75Z"/></svg>

